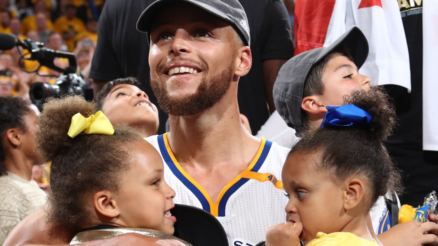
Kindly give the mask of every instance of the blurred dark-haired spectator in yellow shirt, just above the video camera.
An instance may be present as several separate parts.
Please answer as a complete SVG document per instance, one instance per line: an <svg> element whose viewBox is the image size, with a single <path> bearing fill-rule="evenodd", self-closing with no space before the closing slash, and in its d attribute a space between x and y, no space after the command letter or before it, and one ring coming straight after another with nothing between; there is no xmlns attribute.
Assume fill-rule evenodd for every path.
<svg viewBox="0 0 438 246"><path fill-rule="evenodd" d="M76 17L76 7L67 5L65 13L55 21L55 30L62 35L68 51L73 52L74 41L78 33L86 31L84 22Z"/></svg>

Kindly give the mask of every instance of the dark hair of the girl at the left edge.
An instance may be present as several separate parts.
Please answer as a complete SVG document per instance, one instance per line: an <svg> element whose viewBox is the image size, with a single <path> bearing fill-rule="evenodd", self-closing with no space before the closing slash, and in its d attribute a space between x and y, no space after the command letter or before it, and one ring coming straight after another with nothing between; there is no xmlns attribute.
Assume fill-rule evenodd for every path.
<svg viewBox="0 0 438 246"><path fill-rule="evenodd" d="M3 137L10 128L27 131L25 116L32 111L30 103L19 97L0 97L0 134ZM6 150L0 141L0 176L6 175Z"/></svg>

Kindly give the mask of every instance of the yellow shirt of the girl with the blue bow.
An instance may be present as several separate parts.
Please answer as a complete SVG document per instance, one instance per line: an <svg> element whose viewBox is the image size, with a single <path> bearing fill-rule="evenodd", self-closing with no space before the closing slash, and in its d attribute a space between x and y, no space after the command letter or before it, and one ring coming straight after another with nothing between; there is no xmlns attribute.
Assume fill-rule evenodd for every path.
<svg viewBox="0 0 438 246"><path fill-rule="evenodd" d="M306 246L378 246L375 240L368 241L350 232L333 232L325 234L318 232Z"/></svg>

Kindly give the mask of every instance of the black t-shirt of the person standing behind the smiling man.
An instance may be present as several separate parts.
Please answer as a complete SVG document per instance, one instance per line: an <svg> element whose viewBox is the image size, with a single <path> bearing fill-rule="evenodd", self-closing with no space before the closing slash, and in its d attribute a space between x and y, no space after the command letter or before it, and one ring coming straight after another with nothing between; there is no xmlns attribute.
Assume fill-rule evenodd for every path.
<svg viewBox="0 0 438 246"><path fill-rule="evenodd" d="M157 104L149 85L147 35L136 29L140 14L154 0L107 0L99 19L97 47L90 78L114 80L137 77L151 101ZM293 45L289 15L281 0L240 0L250 27L252 67L240 78L239 108L250 122L253 134L269 117L261 63L268 59L289 59ZM129 14L127 14L129 13ZM159 109L159 133L164 132L166 114Z"/></svg>

